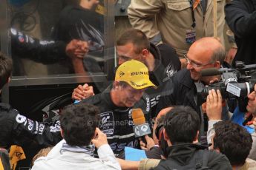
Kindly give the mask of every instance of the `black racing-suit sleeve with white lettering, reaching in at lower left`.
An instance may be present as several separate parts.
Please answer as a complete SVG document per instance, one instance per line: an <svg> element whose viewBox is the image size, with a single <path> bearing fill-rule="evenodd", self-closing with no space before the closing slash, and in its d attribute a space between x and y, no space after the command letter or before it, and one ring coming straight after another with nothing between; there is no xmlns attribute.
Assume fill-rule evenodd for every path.
<svg viewBox="0 0 256 170"><path fill-rule="evenodd" d="M46 124L30 120L7 103L0 103L0 148L11 145L55 145L62 137L59 120Z"/></svg>

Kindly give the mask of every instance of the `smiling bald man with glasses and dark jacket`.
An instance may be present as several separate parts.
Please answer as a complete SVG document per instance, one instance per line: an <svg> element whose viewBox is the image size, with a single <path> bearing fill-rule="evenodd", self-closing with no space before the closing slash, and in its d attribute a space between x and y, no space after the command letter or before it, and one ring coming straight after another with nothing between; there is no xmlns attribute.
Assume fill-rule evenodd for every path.
<svg viewBox="0 0 256 170"><path fill-rule="evenodd" d="M194 82L207 85L214 81L216 76L202 77L200 71L212 67L220 68L225 56L226 51L217 39L206 37L195 41L185 55L188 62L186 69L181 69L165 84L157 110L171 105L191 106L203 120L201 104L197 104ZM203 126L201 130L203 132Z"/></svg>

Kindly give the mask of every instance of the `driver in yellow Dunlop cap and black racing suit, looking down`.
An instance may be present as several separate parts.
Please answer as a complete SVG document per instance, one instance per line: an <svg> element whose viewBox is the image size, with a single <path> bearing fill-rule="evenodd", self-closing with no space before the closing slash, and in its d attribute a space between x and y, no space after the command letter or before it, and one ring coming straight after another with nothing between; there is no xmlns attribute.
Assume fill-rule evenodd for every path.
<svg viewBox="0 0 256 170"><path fill-rule="evenodd" d="M122 152L125 146L138 146L131 111L141 108L146 121L150 123L150 101L143 92L151 86L155 87L149 80L148 67L140 61L126 61L116 70L111 88L78 103L99 106L99 129L107 135L114 154Z"/></svg>

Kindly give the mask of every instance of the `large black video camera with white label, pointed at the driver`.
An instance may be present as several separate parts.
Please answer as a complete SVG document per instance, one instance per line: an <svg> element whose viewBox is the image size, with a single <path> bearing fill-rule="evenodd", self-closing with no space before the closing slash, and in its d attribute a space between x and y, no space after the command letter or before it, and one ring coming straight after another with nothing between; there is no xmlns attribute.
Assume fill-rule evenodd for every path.
<svg viewBox="0 0 256 170"><path fill-rule="evenodd" d="M236 61L234 69L203 69L201 75L221 75L221 79L219 82L208 86L195 83L197 86L197 103L201 104L206 101L210 89L219 89L223 98L237 99L238 103L244 103L256 83L256 64L245 65L242 61Z"/></svg>

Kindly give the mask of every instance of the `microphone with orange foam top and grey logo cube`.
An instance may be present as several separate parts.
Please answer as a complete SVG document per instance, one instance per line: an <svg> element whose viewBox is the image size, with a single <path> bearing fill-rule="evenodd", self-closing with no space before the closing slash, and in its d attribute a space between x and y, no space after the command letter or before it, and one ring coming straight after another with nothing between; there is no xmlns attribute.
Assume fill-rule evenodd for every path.
<svg viewBox="0 0 256 170"><path fill-rule="evenodd" d="M134 121L135 137L142 137L151 134L150 126L145 122L144 113L142 109L132 109L131 117Z"/></svg>

